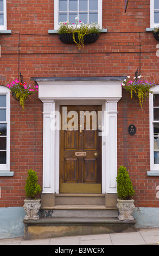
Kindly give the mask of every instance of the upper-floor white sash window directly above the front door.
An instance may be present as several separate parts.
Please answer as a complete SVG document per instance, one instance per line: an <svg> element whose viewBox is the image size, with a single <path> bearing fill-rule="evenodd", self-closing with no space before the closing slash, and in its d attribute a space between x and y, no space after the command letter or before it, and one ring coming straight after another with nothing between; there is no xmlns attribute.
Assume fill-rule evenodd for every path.
<svg viewBox="0 0 159 256"><path fill-rule="evenodd" d="M56 0L54 11L55 29L59 22L75 23L76 17L84 23L97 22L102 27L101 0Z"/></svg>

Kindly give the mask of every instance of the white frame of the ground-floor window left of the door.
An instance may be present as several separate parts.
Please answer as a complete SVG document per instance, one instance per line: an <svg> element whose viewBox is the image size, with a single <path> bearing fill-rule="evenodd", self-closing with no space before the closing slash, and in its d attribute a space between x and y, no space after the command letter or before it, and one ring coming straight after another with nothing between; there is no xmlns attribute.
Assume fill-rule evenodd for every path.
<svg viewBox="0 0 159 256"><path fill-rule="evenodd" d="M7 123L7 162L0 164L0 176L12 176L14 172L10 172L10 90L0 86L0 95L6 95L6 121L1 123Z"/></svg>

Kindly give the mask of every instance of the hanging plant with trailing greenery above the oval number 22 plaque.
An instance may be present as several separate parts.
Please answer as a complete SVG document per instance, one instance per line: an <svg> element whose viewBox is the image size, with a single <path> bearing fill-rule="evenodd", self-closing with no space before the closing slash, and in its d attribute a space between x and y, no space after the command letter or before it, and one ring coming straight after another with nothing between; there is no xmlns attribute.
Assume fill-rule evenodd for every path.
<svg viewBox="0 0 159 256"><path fill-rule="evenodd" d="M130 80L130 76L127 77L121 84L121 86L130 92L132 97L137 97L139 105L143 109L144 100L149 97L149 93L153 93L150 89L152 86L156 86L155 82L148 82L147 80L141 79L142 76L133 77Z"/></svg>

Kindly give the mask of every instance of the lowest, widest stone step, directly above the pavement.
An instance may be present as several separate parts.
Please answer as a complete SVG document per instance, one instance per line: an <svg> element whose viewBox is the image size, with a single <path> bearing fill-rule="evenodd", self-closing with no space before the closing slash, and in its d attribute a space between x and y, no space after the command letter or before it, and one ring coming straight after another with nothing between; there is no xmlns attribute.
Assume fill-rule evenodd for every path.
<svg viewBox="0 0 159 256"><path fill-rule="evenodd" d="M23 221L24 239L43 239L61 236L108 234L135 231L136 221L119 221L118 218L40 218Z"/></svg>

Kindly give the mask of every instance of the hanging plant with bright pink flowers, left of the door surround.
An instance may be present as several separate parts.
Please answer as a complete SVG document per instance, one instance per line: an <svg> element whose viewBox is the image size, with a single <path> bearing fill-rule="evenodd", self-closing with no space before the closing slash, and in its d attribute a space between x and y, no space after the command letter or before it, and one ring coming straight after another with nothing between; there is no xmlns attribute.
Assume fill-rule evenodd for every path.
<svg viewBox="0 0 159 256"><path fill-rule="evenodd" d="M22 106L23 113L24 113L24 105L25 101L31 94L34 94L38 90L38 86L34 86L31 88L30 84L22 83L17 79L12 81L12 83L8 84L7 87L10 89L12 96L16 96L16 99L20 101L20 105Z"/></svg>

